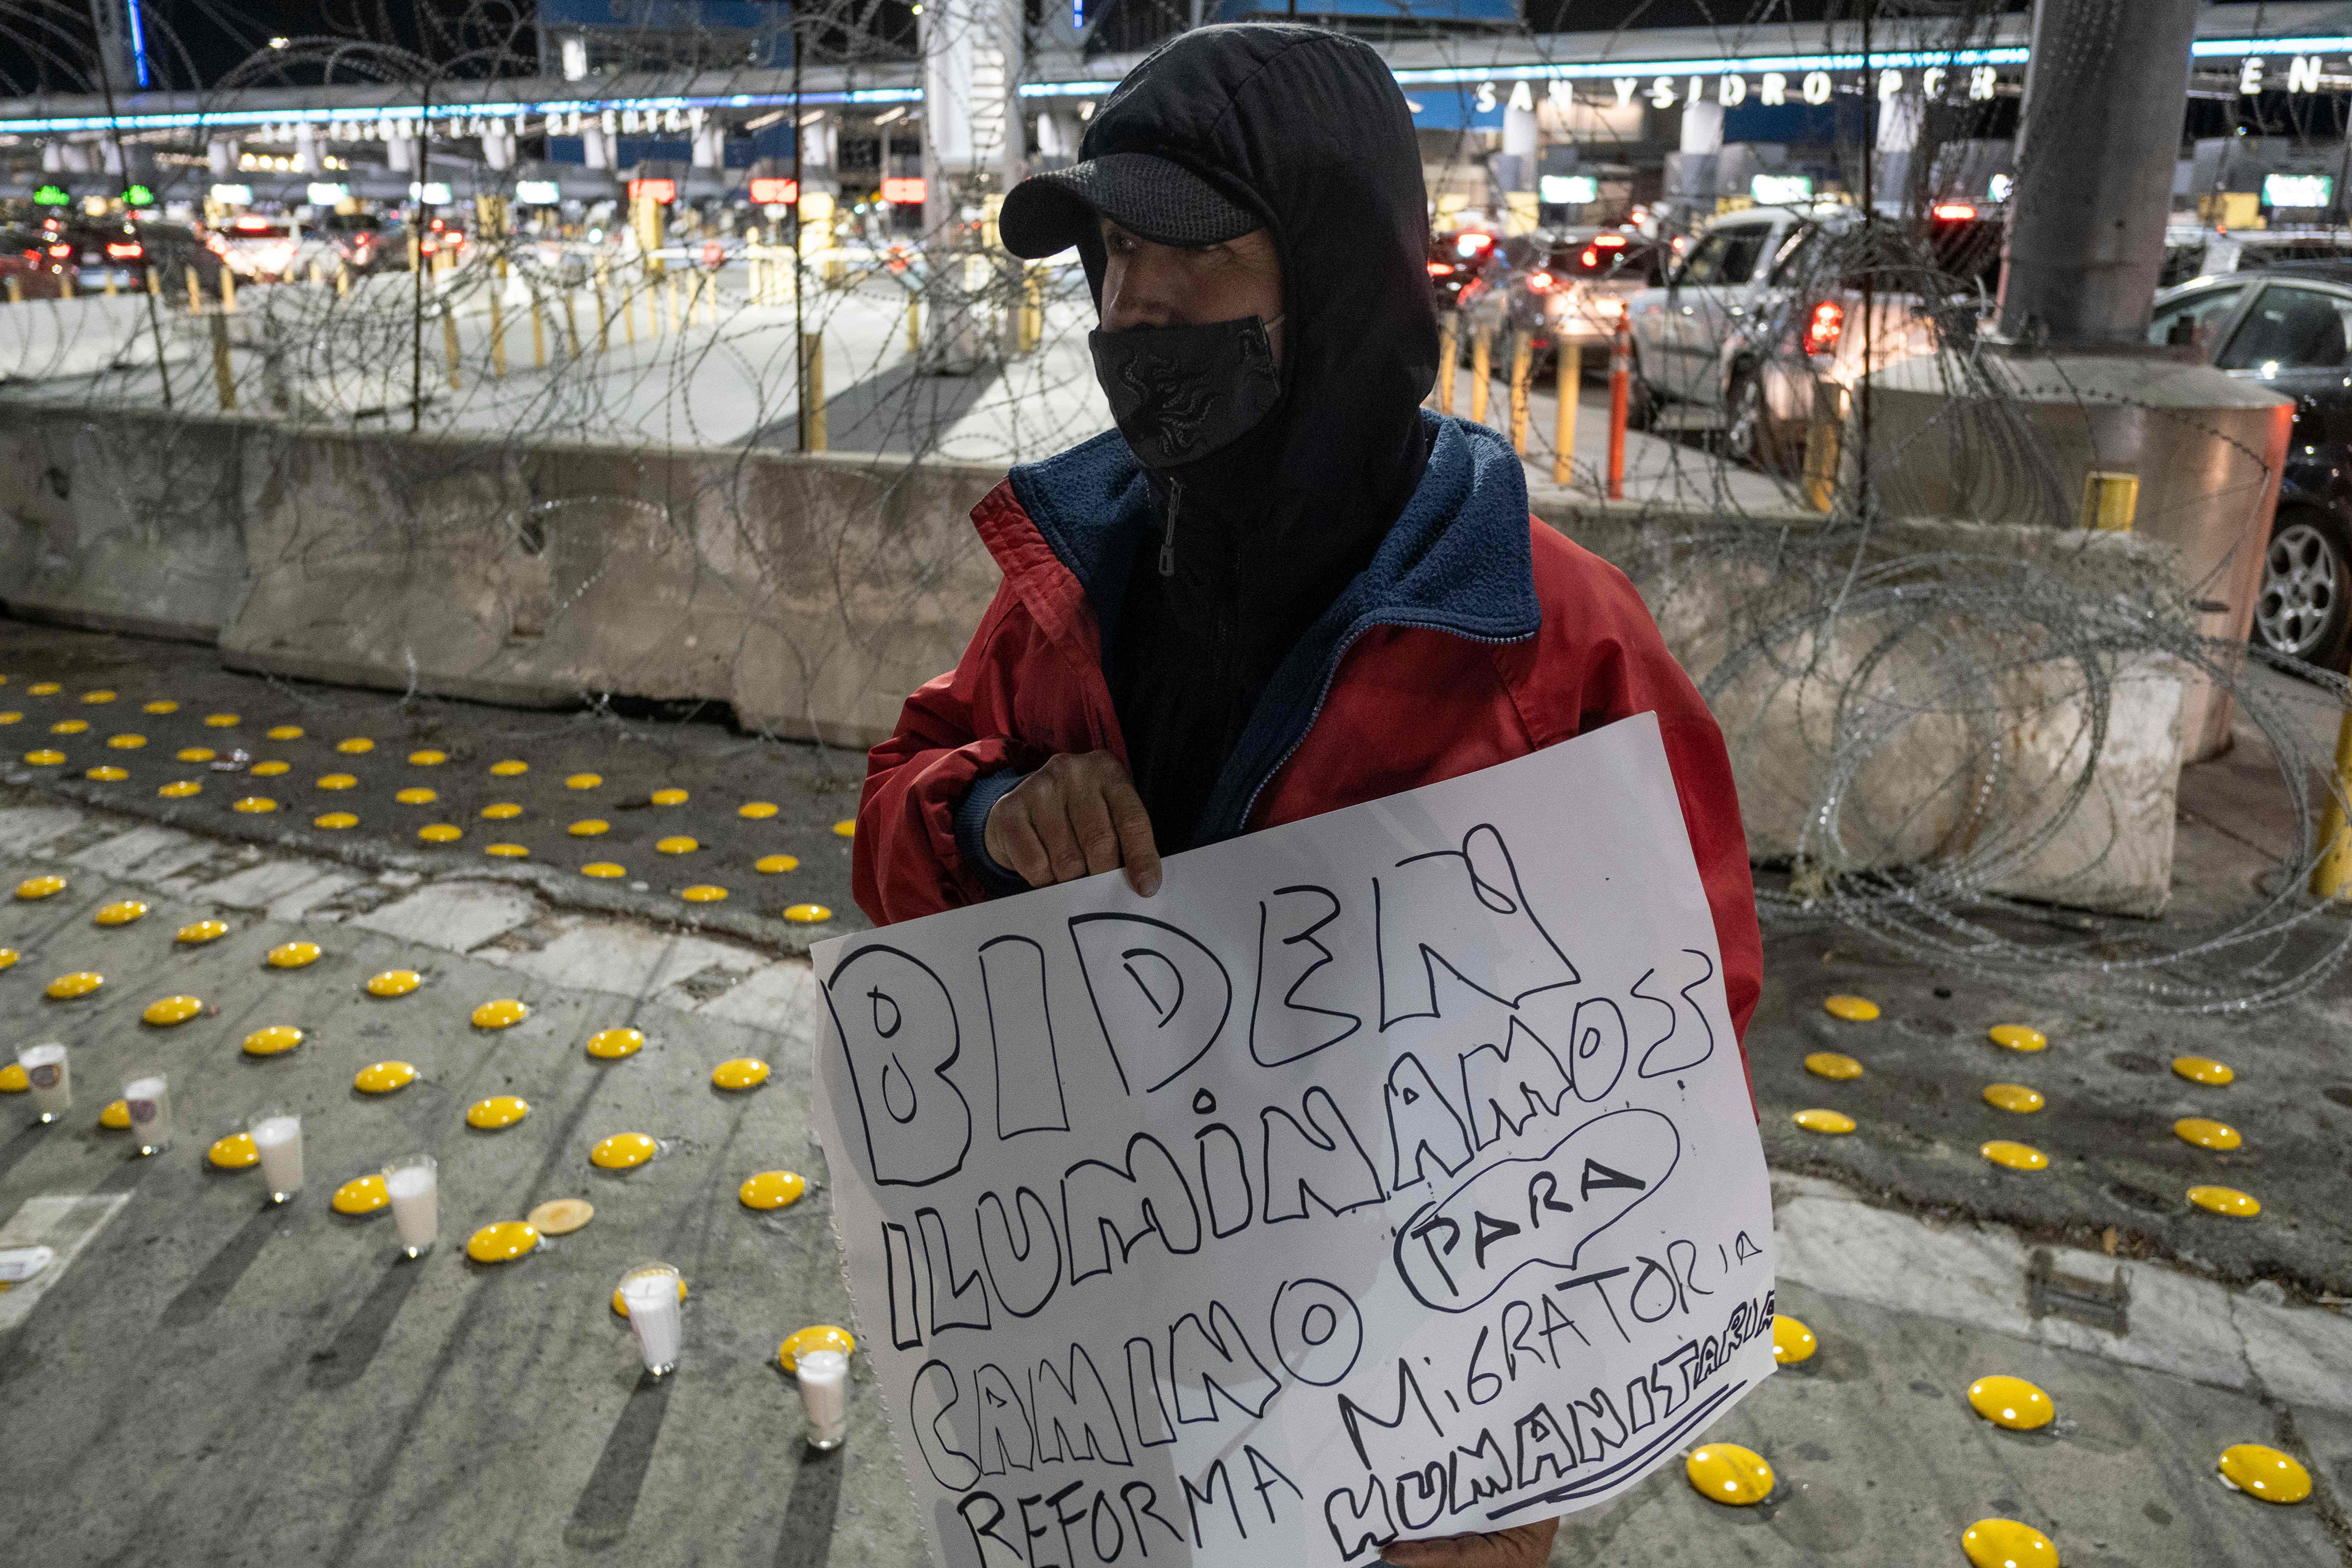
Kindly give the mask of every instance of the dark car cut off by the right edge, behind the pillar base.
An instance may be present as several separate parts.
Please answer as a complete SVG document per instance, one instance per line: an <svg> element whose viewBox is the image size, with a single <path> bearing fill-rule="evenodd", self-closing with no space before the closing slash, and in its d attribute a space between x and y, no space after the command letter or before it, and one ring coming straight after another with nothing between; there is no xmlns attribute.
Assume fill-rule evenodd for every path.
<svg viewBox="0 0 2352 1568"><path fill-rule="evenodd" d="M2293 261L2157 294L2150 343L2296 400L2253 642L2343 670L2352 644L2352 261Z"/></svg>

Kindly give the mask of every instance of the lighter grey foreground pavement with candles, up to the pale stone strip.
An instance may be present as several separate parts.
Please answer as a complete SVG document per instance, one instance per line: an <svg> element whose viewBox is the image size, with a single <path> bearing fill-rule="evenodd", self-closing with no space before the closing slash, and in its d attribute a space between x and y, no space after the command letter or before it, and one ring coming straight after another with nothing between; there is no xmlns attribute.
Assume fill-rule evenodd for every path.
<svg viewBox="0 0 2352 1568"><path fill-rule="evenodd" d="M0 905L0 943L26 954L0 987L12 1016L73 1044L78 1084L47 1131L26 1098L0 1100L0 1239L66 1258L0 1295L0 1382L16 1413L0 1425L0 1472L24 1559L555 1566L626 1544L659 1563L920 1561L863 1361L833 1460L800 1446L771 1361L793 1328L847 1321L807 1131L821 1039L807 966L562 912L463 867L383 872L372 886L390 898L350 910L301 891L346 877L336 863L270 851L223 867L209 844L38 797L0 809L0 877L68 882ZM263 886L287 891L254 907ZM151 910L92 924L122 898ZM172 940L202 914L228 936ZM263 964L285 940L322 957ZM393 966L426 985L365 994L360 980ZM106 985L35 999L68 969ZM205 1009L139 1023L160 994ZM475 1027L470 1011L501 997L529 1018ZM238 1041L256 1025L306 1037L252 1058ZM647 1034L630 1058L581 1048L630 1025ZM419 1081L355 1093L355 1067L379 1056L412 1060ZM713 1088L710 1067L736 1056L774 1077ZM179 1133L141 1161L94 1112L151 1067L172 1079ZM468 1128L463 1107L489 1093L532 1110L508 1131ZM202 1159L261 1100L306 1121L310 1180L287 1208L261 1206L254 1173ZM619 1131L647 1131L661 1152L628 1173L593 1168L588 1147ZM442 1161L442 1241L416 1265L395 1260L381 1215L325 1201L412 1150ZM807 1173L811 1194L743 1208L736 1185L771 1166ZM461 1255L473 1227L553 1197L586 1197L595 1218L517 1262ZM1776 1215L1780 1309L1820 1349L1710 1434L1757 1448L1773 1497L1719 1507L1668 1467L1571 1519L1555 1563L1943 1568L1983 1516L2046 1530L2077 1566L2352 1561L2340 1312L2037 1248L1994 1225L1924 1225L1802 1175L1776 1178ZM647 1258L677 1262L691 1291L680 1373L661 1385L640 1382L609 1307L612 1281ZM1964 1389L1987 1373L2034 1380L2058 1420L2034 1434L1978 1420ZM2213 1462L2239 1441L2300 1453L2317 1502L2227 1490Z"/></svg>

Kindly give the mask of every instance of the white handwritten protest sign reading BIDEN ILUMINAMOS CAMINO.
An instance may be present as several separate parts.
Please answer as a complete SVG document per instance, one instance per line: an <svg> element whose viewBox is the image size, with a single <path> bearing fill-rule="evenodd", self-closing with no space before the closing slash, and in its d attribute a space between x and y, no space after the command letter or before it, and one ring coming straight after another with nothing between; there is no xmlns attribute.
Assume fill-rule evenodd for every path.
<svg viewBox="0 0 2352 1568"><path fill-rule="evenodd" d="M941 1566L1367 1563L1602 1502L1773 1371L1653 715L814 961Z"/></svg>

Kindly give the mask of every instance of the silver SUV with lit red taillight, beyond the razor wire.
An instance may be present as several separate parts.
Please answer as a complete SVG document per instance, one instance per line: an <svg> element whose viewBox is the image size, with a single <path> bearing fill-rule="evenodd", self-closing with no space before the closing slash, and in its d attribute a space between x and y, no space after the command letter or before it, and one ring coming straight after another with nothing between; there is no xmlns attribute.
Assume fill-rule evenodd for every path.
<svg viewBox="0 0 2352 1568"><path fill-rule="evenodd" d="M1635 423L1656 416L1715 430L1729 456L1788 468L1816 386L1851 388L1992 322L2002 263L1994 209L1938 202L1917 244L1879 249L1870 289L1853 259L1860 228L1860 209L1839 202L1715 219L1665 287L1625 306Z"/></svg>

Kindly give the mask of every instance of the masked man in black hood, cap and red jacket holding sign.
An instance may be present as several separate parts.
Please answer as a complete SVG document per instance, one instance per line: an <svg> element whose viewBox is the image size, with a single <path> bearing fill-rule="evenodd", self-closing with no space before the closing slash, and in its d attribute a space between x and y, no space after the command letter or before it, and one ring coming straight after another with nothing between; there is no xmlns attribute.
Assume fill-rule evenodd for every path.
<svg viewBox="0 0 2352 1568"><path fill-rule="evenodd" d="M854 886L877 924L1160 856L1656 712L1733 1023L1762 983L1722 733L1632 585L1529 520L1437 369L1411 110L1296 26L1157 49L1080 162L1011 190L1018 256L1077 247L1117 430L974 510L1004 571L962 663L873 750ZM1559 802L1573 813L1576 802ZM1534 1568L1552 1523L1397 1542Z"/></svg>

